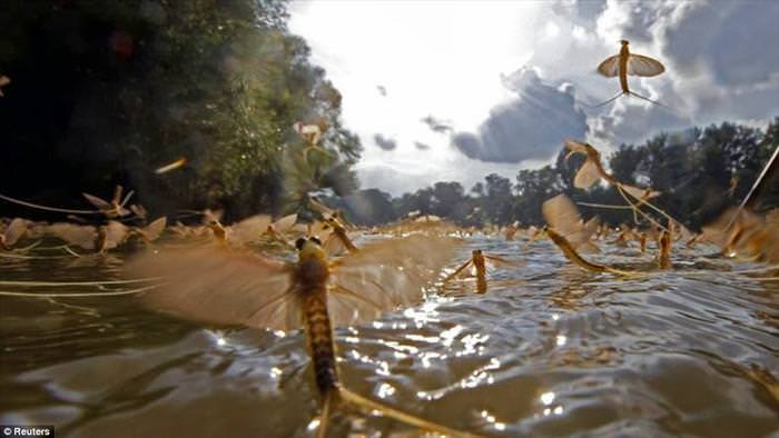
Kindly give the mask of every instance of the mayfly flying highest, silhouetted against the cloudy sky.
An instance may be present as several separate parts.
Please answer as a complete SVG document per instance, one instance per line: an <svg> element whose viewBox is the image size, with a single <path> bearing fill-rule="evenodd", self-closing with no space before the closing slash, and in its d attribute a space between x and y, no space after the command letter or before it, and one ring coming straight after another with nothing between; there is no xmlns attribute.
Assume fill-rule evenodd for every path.
<svg viewBox="0 0 779 438"><path fill-rule="evenodd" d="M631 53L630 49L628 49L628 40L621 40L620 42L622 43L622 49L620 49L619 54L609 57L605 59L605 61L601 62L601 64L598 66L598 72L605 76L607 78L613 78L615 76L619 76L622 92L591 108L598 108L611 103L619 97L625 94L635 96L639 99L647 100L654 104L663 106L662 103L654 101L648 97L641 96L635 91L631 91L628 87L628 74L649 78L661 74L663 71L665 71L665 67L663 67L663 64L657 59L644 57L643 54Z"/></svg>

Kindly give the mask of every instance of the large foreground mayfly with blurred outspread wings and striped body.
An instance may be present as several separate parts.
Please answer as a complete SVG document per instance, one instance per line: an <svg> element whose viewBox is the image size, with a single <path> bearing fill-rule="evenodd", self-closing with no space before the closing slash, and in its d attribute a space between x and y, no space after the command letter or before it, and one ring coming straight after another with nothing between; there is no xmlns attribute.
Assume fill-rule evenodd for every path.
<svg viewBox="0 0 779 438"><path fill-rule="evenodd" d="M343 401L438 434L463 436L347 390L336 361L334 326L377 318L383 311L423 299L423 286L454 250L451 239L414 235L363 248L335 262L321 241L299 238L297 262L220 247L156 251L128 266L134 275L164 276L161 289L144 297L157 310L183 318L273 330L304 328L321 396L318 435L325 436L329 410ZM424 256L422 256L424 255Z"/></svg>

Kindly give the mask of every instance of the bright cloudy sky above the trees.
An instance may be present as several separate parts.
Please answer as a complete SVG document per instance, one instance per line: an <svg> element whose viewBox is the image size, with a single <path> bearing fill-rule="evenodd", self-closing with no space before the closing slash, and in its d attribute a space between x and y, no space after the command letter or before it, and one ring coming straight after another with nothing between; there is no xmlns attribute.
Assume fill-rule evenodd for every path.
<svg viewBox="0 0 779 438"><path fill-rule="evenodd" d="M602 151L722 121L779 116L779 2L770 0L294 1L289 29L343 94L364 189L394 196L550 163L566 138ZM665 72L595 72L620 40Z"/></svg>

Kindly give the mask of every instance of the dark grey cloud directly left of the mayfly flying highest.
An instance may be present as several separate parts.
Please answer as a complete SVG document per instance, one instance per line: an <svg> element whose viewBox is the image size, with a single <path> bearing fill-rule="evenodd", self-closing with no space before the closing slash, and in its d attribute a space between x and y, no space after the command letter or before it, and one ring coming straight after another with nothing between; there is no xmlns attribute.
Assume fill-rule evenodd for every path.
<svg viewBox="0 0 779 438"><path fill-rule="evenodd" d="M574 104L573 89L545 84L532 69L503 78L519 99L495 107L477 133L457 132L453 142L469 158L492 162L548 159L569 137L583 138L586 116Z"/></svg>

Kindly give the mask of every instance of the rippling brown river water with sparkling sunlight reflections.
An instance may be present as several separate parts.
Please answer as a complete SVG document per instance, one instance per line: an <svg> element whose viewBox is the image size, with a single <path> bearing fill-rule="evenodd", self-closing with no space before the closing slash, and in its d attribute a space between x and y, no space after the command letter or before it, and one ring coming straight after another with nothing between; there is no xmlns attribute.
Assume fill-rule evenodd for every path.
<svg viewBox="0 0 779 438"><path fill-rule="evenodd" d="M522 263L491 271L485 295L461 279L339 328L346 387L484 436L779 436L779 281L759 279L776 276L755 272L763 266L701 247L676 253L672 270L620 278L571 266L546 240L473 238L452 267L473 248ZM121 292L9 283L119 279L121 257L3 257L0 289ZM651 267L631 248L593 259ZM55 425L60 437L314 435L299 331L181 321L135 295L2 296L0 348L2 425ZM329 431L421 434L344 409Z"/></svg>

